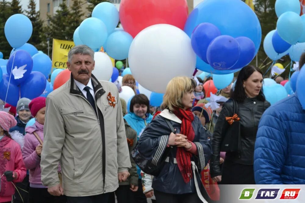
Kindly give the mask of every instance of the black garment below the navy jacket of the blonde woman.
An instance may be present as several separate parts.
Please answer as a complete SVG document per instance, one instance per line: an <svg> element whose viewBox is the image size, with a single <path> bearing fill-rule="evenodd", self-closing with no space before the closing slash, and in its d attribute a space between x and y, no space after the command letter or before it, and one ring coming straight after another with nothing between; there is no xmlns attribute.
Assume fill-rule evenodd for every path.
<svg viewBox="0 0 305 203"><path fill-rule="evenodd" d="M169 194L154 190L157 203L199 203L197 193Z"/></svg>

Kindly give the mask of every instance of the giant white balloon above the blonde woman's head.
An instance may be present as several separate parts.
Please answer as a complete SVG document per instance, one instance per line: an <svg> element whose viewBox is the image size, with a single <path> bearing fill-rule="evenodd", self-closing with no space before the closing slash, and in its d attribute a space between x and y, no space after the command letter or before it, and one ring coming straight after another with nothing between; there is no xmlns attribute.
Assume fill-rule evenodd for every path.
<svg viewBox="0 0 305 203"><path fill-rule="evenodd" d="M142 30L132 41L128 63L132 75L145 89L165 93L174 77L192 76L196 54L183 30L157 24Z"/></svg>

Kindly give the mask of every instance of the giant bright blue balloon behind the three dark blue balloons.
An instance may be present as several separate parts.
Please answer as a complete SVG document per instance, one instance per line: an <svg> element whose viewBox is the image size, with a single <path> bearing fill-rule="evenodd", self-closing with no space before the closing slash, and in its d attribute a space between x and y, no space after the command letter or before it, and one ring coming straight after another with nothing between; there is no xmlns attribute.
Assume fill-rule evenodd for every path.
<svg viewBox="0 0 305 203"><path fill-rule="evenodd" d="M212 23L223 35L250 38L255 44L255 54L260 48L260 21L253 10L240 0L201 2L188 16L184 27L185 33L191 37L193 30L200 23Z"/></svg>

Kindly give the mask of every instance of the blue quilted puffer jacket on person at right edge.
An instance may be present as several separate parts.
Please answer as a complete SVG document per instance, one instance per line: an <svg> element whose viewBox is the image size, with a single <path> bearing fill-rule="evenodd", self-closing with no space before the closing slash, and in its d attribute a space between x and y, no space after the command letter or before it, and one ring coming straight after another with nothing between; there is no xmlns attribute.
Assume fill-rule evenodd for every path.
<svg viewBox="0 0 305 203"><path fill-rule="evenodd" d="M257 184L305 184L305 110L296 94L263 114L254 171Z"/></svg>

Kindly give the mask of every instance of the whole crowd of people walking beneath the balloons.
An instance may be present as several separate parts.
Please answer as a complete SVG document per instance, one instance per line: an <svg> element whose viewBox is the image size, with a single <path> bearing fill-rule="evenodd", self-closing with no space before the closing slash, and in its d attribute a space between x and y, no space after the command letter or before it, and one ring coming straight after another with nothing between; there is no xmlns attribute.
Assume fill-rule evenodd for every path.
<svg viewBox="0 0 305 203"><path fill-rule="evenodd" d="M0 202L213 202L218 184L305 184L305 111L297 93L271 106L257 67L210 98L203 79L175 77L160 107L125 75L129 109L119 85L91 74L89 47L67 67L46 99L0 111Z"/></svg>

